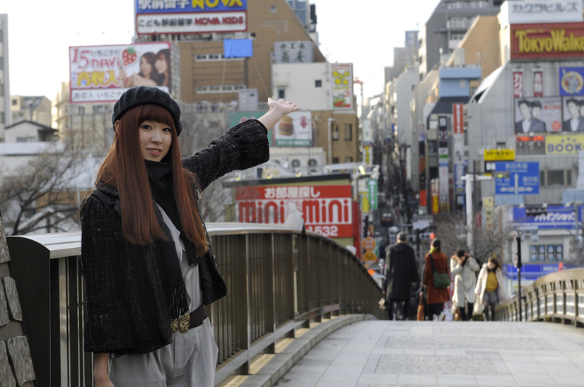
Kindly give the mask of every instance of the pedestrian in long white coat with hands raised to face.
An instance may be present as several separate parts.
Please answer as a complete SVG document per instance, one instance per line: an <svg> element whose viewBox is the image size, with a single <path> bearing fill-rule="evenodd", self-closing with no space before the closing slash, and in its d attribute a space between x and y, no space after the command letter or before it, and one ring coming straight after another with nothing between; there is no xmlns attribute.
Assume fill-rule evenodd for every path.
<svg viewBox="0 0 584 387"><path fill-rule="evenodd" d="M454 275L454 291L452 304L458 308L460 320L469 321L472 318L474 306L474 286L477 284L479 263L464 249L458 249L450 258L450 272Z"/></svg>

